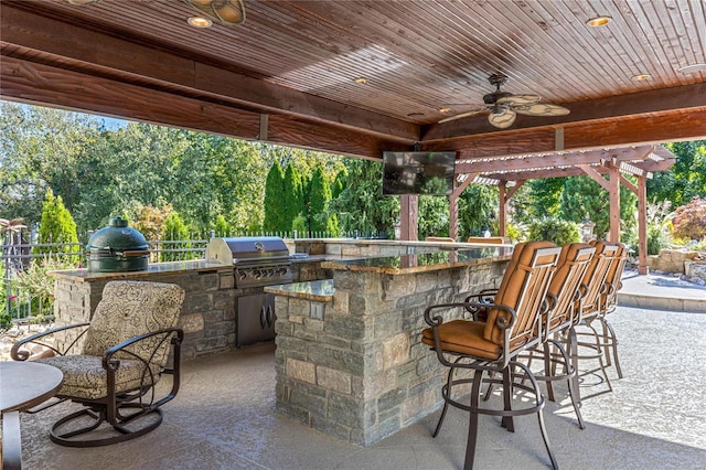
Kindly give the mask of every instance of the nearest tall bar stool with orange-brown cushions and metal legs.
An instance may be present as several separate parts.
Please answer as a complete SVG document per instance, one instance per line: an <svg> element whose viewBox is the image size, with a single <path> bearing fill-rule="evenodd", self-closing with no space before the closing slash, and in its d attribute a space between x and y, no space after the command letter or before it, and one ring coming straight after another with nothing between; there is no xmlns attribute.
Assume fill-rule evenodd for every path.
<svg viewBox="0 0 706 470"><path fill-rule="evenodd" d="M514 431L514 416L536 414L549 459L557 468L542 415L544 397L534 374L517 361L517 356L542 342L541 319L547 309L546 293L559 252L560 248L549 242L518 244L492 302L440 303L425 310L425 321L430 328L422 331L421 341L436 351L441 365L449 367L447 383L441 388L443 409L432 436L439 434L449 405L469 412L466 469L473 467L480 414L501 416L509 431ZM443 312L454 308L470 311L472 320L445 321ZM486 321L478 321L475 312L480 310L486 312ZM520 368L523 374L514 373L514 368ZM468 371L470 376L456 376L457 371ZM503 409L479 406L481 383L486 372L502 375L502 380L489 377L485 382L503 384ZM521 376L528 378L530 384L515 382ZM453 393L454 387L463 384L472 384L470 405L459 402ZM466 387L459 388L462 392ZM524 407L513 409L514 388L530 392L532 402L524 402Z"/></svg>

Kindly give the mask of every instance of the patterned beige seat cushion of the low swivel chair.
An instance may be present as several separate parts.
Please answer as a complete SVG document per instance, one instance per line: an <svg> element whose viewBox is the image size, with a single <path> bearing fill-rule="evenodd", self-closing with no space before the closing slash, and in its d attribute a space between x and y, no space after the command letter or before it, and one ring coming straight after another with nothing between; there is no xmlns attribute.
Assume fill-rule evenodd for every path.
<svg viewBox="0 0 706 470"><path fill-rule="evenodd" d="M45 357L36 362L53 365L64 373L58 396L98 399L108 395L107 374L103 368L103 357L100 356L64 355ZM120 367L115 372L116 393L157 383L160 378L159 367L150 365L150 368L153 380L141 361L120 360ZM146 371L145 376L142 375L143 371Z"/></svg>

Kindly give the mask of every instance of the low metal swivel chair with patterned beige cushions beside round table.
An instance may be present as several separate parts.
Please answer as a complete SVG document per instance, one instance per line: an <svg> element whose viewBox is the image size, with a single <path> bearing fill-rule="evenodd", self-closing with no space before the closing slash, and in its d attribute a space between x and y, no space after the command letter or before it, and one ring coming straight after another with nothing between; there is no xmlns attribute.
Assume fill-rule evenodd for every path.
<svg viewBox="0 0 706 470"><path fill-rule="evenodd" d="M47 346L47 335L77 333L61 349L47 346L54 356L38 360L64 373L58 398L84 405L53 425L54 442L107 446L142 436L161 424L160 406L179 391L183 332L175 325L183 299L183 289L171 284L110 281L89 323L61 327L14 344L12 359L24 361L30 355L25 345ZM170 353L173 365L168 367ZM164 373L173 374L171 389L158 392L156 385ZM109 426L101 426L105 423Z"/></svg>

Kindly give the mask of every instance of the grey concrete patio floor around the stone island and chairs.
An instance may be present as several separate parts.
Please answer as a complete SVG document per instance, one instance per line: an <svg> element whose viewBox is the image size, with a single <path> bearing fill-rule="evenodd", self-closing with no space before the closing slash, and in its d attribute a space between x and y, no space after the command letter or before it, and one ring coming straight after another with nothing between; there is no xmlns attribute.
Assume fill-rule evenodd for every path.
<svg viewBox="0 0 706 470"><path fill-rule="evenodd" d="M612 393L587 376L576 425L566 388L548 403L545 419L565 469L706 468L706 314L619 308L611 316L621 341L624 378ZM147 436L109 447L54 445L49 428L72 404L22 416L24 468L49 469L458 469L468 416L451 409L438 438L439 412L362 448L295 423L275 412L272 343L184 363L178 397L163 424ZM586 364L590 366L590 364ZM611 377L614 377L614 371ZM482 416L479 469L549 466L534 416L507 432Z"/></svg>

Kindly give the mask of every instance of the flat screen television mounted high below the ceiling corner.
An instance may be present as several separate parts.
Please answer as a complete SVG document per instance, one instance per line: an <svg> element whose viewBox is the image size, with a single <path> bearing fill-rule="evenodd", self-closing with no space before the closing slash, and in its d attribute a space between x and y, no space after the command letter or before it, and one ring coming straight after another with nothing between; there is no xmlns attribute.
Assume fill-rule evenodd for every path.
<svg viewBox="0 0 706 470"><path fill-rule="evenodd" d="M449 195L456 152L383 152L383 194Z"/></svg>

